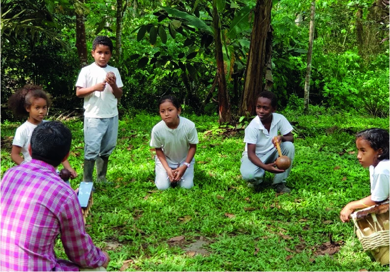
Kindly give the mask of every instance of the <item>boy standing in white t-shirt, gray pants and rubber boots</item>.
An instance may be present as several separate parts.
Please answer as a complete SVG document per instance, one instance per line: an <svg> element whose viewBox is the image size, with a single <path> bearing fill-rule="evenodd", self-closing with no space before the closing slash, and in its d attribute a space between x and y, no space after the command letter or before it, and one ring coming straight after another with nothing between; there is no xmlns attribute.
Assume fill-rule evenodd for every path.
<svg viewBox="0 0 390 272"><path fill-rule="evenodd" d="M118 137L116 105L123 83L118 69L107 64L112 55L109 37L97 36L91 54L95 62L81 70L76 82L76 95L84 98L85 109L83 181L92 181L96 161L96 181L107 183L107 164Z"/></svg>

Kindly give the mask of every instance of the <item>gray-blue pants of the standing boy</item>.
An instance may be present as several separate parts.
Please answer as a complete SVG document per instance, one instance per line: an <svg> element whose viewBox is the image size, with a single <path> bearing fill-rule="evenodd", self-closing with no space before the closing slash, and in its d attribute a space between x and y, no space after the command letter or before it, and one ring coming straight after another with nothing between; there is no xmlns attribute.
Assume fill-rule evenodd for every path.
<svg viewBox="0 0 390 272"><path fill-rule="evenodd" d="M84 117L84 159L108 157L118 138L118 115L111 118Z"/></svg>

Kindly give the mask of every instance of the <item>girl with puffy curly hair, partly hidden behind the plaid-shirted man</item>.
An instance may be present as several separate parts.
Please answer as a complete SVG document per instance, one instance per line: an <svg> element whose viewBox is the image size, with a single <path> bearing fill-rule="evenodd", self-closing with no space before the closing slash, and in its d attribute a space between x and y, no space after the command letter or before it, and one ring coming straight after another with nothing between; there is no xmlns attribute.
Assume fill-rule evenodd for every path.
<svg viewBox="0 0 390 272"><path fill-rule="evenodd" d="M11 159L14 163L19 165L31 161L28 152L31 134L40 123L45 122L43 119L49 106L50 99L47 93L38 85L25 85L9 98L8 108L13 111L14 115L28 115L27 121L16 129L12 142ZM70 171L71 178L77 177L77 172L70 166L68 160L62 165Z"/></svg>

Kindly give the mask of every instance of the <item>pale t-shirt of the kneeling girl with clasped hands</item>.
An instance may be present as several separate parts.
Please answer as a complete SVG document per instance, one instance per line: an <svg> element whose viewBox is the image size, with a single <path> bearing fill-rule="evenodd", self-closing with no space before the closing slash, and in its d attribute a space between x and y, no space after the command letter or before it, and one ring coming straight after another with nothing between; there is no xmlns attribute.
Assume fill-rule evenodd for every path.
<svg viewBox="0 0 390 272"><path fill-rule="evenodd" d="M161 120L153 127L150 140L150 146L163 148L167 162L172 164L182 163L187 158L190 144L199 142L194 122L184 117L179 118L179 126L173 130Z"/></svg>

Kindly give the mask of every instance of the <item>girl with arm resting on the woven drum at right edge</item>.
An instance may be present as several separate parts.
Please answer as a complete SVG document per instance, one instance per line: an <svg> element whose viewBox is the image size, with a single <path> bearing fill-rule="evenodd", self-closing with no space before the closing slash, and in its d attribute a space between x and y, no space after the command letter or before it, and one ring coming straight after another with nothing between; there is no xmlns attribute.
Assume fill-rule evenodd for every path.
<svg viewBox="0 0 390 272"><path fill-rule="evenodd" d="M367 129L356 135L358 160L363 167L370 167L371 195L348 203L340 212L343 222L356 209L366 208L389 197L389 132L383 129Z"/></svg>

